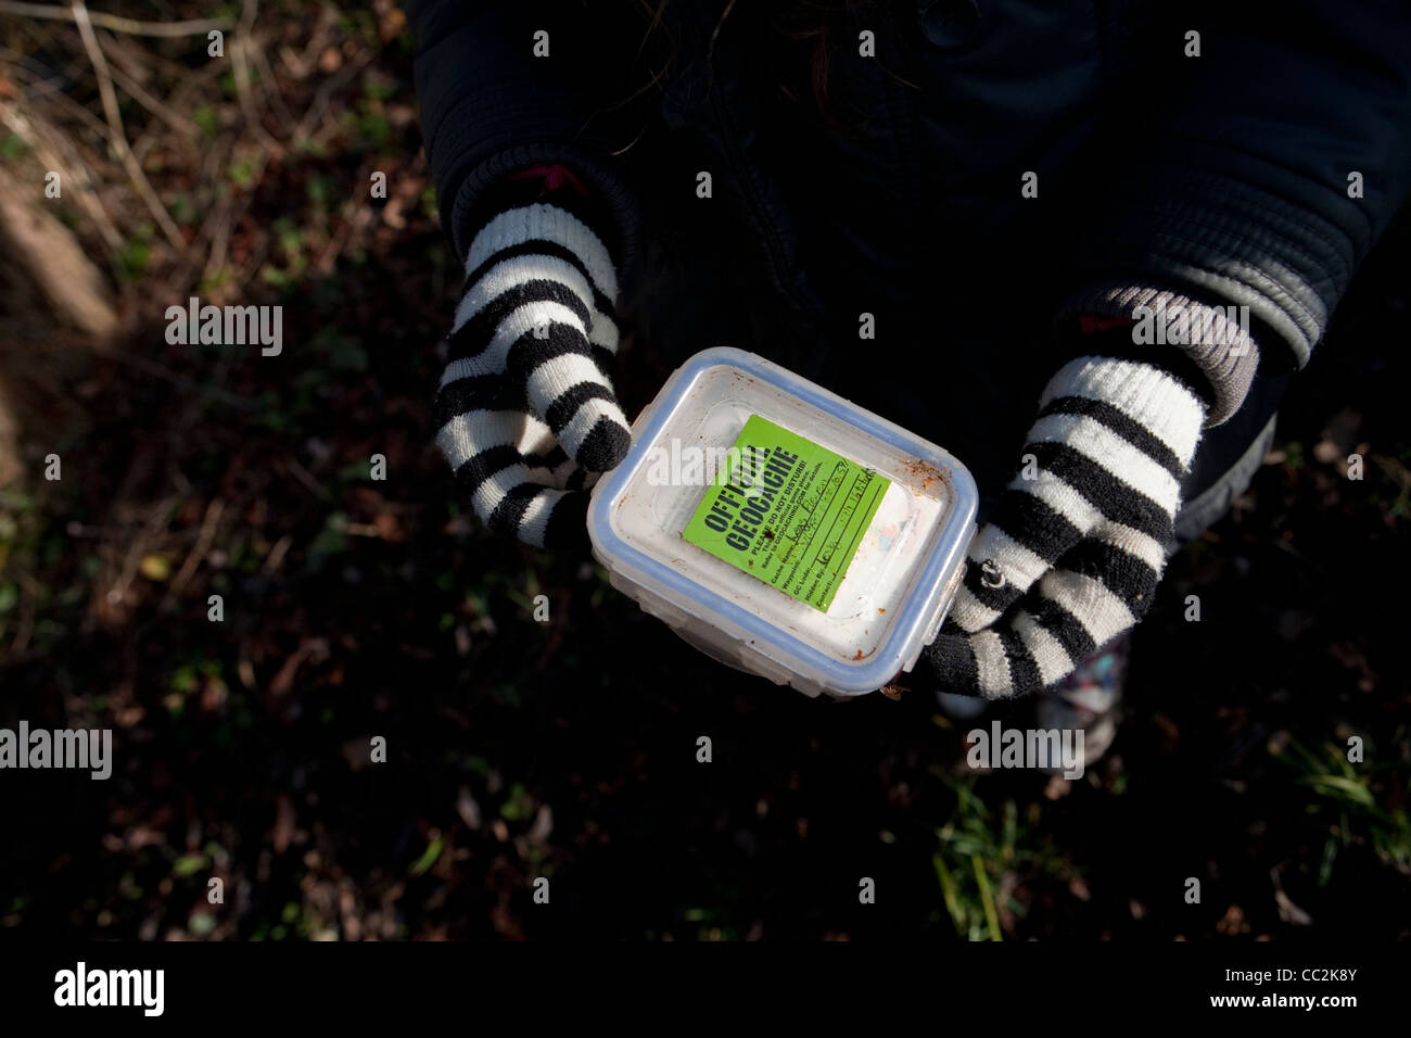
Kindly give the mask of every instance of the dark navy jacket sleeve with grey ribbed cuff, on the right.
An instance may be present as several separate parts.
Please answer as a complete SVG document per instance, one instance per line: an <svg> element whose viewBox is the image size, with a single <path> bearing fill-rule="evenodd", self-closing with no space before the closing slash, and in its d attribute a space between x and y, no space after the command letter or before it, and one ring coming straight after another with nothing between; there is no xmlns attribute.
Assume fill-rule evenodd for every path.
<svg viewBox="0 0 1411 1038"><path fill-rule="evenodd" d="M1157 100L1134 92L1140 110L1115 120L1096 226L1078 246L1084 287L1060 321L1185 306L1222 329L1223 308L1249 306L1259 349L1237 333L1184 346L1211 383L1213 425L1260 354L1308 362L1411 188L1411 4L1225 0L1157 35Z"/></svg>

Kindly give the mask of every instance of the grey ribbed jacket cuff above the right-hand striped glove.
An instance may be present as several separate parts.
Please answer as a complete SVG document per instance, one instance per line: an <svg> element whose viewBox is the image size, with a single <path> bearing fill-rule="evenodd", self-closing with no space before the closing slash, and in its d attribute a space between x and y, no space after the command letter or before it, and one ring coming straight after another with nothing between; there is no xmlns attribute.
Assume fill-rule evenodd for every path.
<svg viewBox="0 0 1411 1038"><path fill-rule="evenodd" d="M1201 302L1175 288L1113 278L1070 295L1058 308L1054 328L1067 332L1082 315L1126 318L1133 322L1133 356L1144 346L1180 350L1205 378L1199 388L1209 402L1205 425L1211 426L1239 410L1259 367L1259 346L1247 318L1239 319L1242 312Z"/></svg>

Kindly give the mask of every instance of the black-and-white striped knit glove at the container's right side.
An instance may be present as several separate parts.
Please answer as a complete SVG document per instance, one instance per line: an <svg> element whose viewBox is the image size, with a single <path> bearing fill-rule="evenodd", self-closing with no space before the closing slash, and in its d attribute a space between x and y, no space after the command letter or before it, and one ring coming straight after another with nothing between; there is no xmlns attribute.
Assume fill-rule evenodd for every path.
<svg viewBox="0 0 1411 1038"><path fill-rule="evenodd" d="M943 692L1058 684L1140 620L1161 578L1205 404L1160 367L1078 357L1040 407L1024 467L972 541L926 650Z"/></svg>

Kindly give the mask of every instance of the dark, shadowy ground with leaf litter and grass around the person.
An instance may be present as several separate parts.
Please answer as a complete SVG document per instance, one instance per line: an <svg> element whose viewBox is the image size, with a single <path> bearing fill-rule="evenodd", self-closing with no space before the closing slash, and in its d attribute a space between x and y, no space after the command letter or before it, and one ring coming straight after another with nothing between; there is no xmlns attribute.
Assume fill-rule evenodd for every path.
<svg viewBox="0 0 1411 1038"><path fill-rule="evenodd" d="M473 521L432 443L460 278L391 3L124 7L257 45L233 55L233 28L207 61L203 34L96 30L172 236L73 24L0 16L0 171L114 315L65 328L6 257L0 724L111 727L116 754L107 782L0 772L0 933L1411 933L1405 219L1250 491L1171 565L1112 753L1072 784L976 777L924 695L831 703L734 674L595 566ZM166 345L192 294L282 304L284 354ZM629 414L662 374L628 352Z"/></svg>

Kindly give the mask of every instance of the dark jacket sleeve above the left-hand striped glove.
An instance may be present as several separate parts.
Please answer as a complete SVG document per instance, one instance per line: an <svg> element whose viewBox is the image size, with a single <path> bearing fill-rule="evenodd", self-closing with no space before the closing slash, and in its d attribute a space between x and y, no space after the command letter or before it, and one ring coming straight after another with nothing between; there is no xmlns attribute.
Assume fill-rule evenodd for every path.
<svg viewBox="0 0 1411 1038"><path fill-rule="evenodd" d="M625 264L638 213L612 158L621 127L604 85L619 83L624 69L611 28L581 4L539 0L409 0L408 18L422 137L457 256L470 247L467 217L490 185L550 164L573 169L612 213L615 226L595 230ZM539 31L547 38L536 41Z"/></svg>

